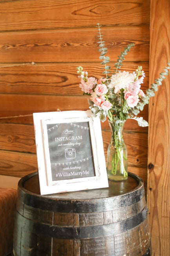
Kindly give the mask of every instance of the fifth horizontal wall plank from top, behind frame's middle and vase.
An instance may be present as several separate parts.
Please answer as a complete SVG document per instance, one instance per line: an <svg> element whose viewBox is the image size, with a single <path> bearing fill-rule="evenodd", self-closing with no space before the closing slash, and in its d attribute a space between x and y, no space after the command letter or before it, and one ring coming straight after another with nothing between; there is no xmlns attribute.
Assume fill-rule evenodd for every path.
<svg viewBox="0 0 170 256"><path fill-rule="evenodd" d="M111 132L102 131L105 158L110 143ZM124 131L125 144L128 150L128 163L147 166L147 134ZM0 148L9 151L36 153L34 129L31 125L0 124Z"/></svg>

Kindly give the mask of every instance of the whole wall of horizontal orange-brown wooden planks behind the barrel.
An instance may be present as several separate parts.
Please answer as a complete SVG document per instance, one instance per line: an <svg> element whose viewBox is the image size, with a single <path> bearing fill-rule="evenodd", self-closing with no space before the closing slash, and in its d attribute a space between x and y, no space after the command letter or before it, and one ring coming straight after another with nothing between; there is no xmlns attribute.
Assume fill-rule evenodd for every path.
<svg viewBox="0 0 170 256"><path fill-rule="evenodd" d="M149 0L0 0L0 174L37 170L34 112L88 109L76 67L101 77L96 23L103 25L111 66L128 43L127 71L142 65L148 87ZM33 64L31 64L33 63ZM148 120L147 106L141 113ZM105 154L110 141L102 124ZM147 128L127 121L128 171L147 179Z"/></svg>

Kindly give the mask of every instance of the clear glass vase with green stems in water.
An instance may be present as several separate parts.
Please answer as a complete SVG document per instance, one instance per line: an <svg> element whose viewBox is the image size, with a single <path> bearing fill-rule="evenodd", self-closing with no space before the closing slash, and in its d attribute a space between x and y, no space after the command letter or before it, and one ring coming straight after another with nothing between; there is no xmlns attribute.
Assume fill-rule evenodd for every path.
<svg viewBox="0 0 170 256"><path fill-rule="evenodd" d="M107 177L109 180L127 180L127 147L123 141L123 128L126 120L109 121L112 132L107 150Z"/></svg>

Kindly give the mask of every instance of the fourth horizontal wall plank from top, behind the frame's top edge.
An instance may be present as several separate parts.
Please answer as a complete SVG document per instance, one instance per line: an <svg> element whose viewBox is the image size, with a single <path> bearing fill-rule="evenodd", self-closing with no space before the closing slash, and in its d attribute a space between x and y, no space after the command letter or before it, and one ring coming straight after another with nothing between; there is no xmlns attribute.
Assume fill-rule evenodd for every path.
<svg viewBox="0 0 170 256"><path fill-rule="evenodd" d="M0 122L31 123L32 114L36 112L49 112L66 110L87 110L88 96L59 96L59 95L17 95L0 94ZM146 105L140 115L148 119L148 106ZM20 117L21 115L21 117ZM26 115L26 116L25 116ZM139 116L140 116L139 115ZM128 120L128 130L139 129L137 122ZM132 127L134 125L134 127ZM109 129L107 122L102 123L103 129ZM143 128L139 129L143 131Z"/></svg>

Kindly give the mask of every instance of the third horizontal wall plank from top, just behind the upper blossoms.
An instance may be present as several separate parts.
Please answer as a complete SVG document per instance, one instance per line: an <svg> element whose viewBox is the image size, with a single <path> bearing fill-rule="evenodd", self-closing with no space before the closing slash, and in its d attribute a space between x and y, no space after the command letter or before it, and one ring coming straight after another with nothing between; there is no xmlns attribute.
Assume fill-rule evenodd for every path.
<svg viewBox="0 0 170 256"><path fill-rule="evenodd" d="M78 65L88 72L89 77L94 76L99 79L103 76L101 69L103 66L97 63L22 64L13 67L9 65L4 68L1 64L0 93L82 95L79 87L80 78L77 74ZM114 67L114 63L109 64L110 67ZM125 62L121 70L133 72L138 65L143 67L146 75L144 83L141 85L141 89L145 91L148 88L149 80L147 62Z"/></svg>

